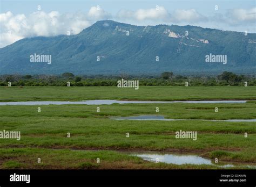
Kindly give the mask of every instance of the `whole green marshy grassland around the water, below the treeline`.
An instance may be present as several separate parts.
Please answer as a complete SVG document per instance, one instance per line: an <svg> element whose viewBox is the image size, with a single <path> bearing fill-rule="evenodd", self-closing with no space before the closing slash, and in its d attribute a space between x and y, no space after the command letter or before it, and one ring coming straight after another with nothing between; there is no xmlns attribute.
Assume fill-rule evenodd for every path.
<svg viewBox="0 0 256 187"><path fill-rule="evenodd" d="M24 87L0 88L0 100L204 100L256 98L256 87ZM189 90L186 90L189 89ZM136 93L136 91L139 91ZM219 162L256 164L255 122L196 119L256 119L256 102L244 104L112 104L0 106L0 131L21 131L21 140L0 139L0 168L36 169L220 169L208 165L152 163L133 152L197 154ZM159 107L159 112L156 112ZM218 107L218 112L214 108ZM191 121L113 120L157 114ZM197 141L176 131L197 131ZM71 137L67 138L67 133ZM130 137L126 138L126 133ZM244 134L248 133L245 138ZM40 157L42 162L37 163ZM100 158L100 163L96 162ZM239 164L234 168L243 168Z"/></svg>

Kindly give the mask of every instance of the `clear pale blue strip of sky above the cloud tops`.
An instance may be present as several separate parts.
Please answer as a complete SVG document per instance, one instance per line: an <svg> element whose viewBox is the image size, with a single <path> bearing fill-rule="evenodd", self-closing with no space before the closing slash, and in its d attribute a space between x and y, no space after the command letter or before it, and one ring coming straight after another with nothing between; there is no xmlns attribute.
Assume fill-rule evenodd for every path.
<svg viewBox="0 0 256 187"><path fill-rule="evenodd" d="M167 10L174 9L196 9L200 13L215 13L214 6L219 5L219 11L225 11L228 9L249 9L256 6L256 1L254 0L130 0L130 1L120 1L120 0L92 0L92 1L72 1L72 0L44 0L44 1L12 1L12 0L1 0L1 13L6 11L11 11L13 13L31 13L36 11L37 5L41 5L42 9L46 12L57 10L62 13L66 12L76 12L76 11L88 11L91 6L100 5L103 9L110 13L117 13L120 9L149 9L156 5L164 6Z"/></svg>

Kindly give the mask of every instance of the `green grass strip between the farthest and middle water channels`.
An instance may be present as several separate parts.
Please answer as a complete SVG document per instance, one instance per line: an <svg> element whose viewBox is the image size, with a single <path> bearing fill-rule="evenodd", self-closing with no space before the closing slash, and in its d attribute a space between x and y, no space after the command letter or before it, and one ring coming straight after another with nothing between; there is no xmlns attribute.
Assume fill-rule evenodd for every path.
<svg viewBox="0 0 256 187"><path fill-rule="evenodd" d="M256 119L256 102L244 104L112 104L112 105L5 105L2 117L109 118L113 116L162 115L170 119ZM100 108L100 112L96 108ZM159 112L156 112L156 107ZM218 107L218 112L215 112ZM14 118L16 120L16 118Z"/></svg>

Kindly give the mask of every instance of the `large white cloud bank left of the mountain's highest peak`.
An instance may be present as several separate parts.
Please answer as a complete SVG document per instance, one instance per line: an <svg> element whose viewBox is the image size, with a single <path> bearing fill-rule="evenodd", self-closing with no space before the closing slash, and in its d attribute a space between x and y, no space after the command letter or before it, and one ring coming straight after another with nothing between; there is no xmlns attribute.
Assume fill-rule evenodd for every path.
<svg viewBox="0 0 256 187"><path fill-rule="evenodd" d="M37 11L25 16L13 15L8 11L0 14L0 47L26 37L49 37L67 34L68 31L70 34L78 34L95 21L108 18L111 18L111 15L103 9L97 9L96 6L91 7L88 13L60 14L58 11Z"/></svg>

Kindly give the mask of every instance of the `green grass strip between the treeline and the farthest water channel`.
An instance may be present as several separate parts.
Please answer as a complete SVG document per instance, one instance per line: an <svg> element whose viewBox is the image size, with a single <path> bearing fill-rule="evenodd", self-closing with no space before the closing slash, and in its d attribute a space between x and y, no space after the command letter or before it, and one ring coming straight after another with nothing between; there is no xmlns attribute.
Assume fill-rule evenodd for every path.
<svg viewBox="0 0 256 187"><path fill-rule="evenodd" d="M232 100L256 99L256 87L0 87L0 102L26 100Z"/></svg>

